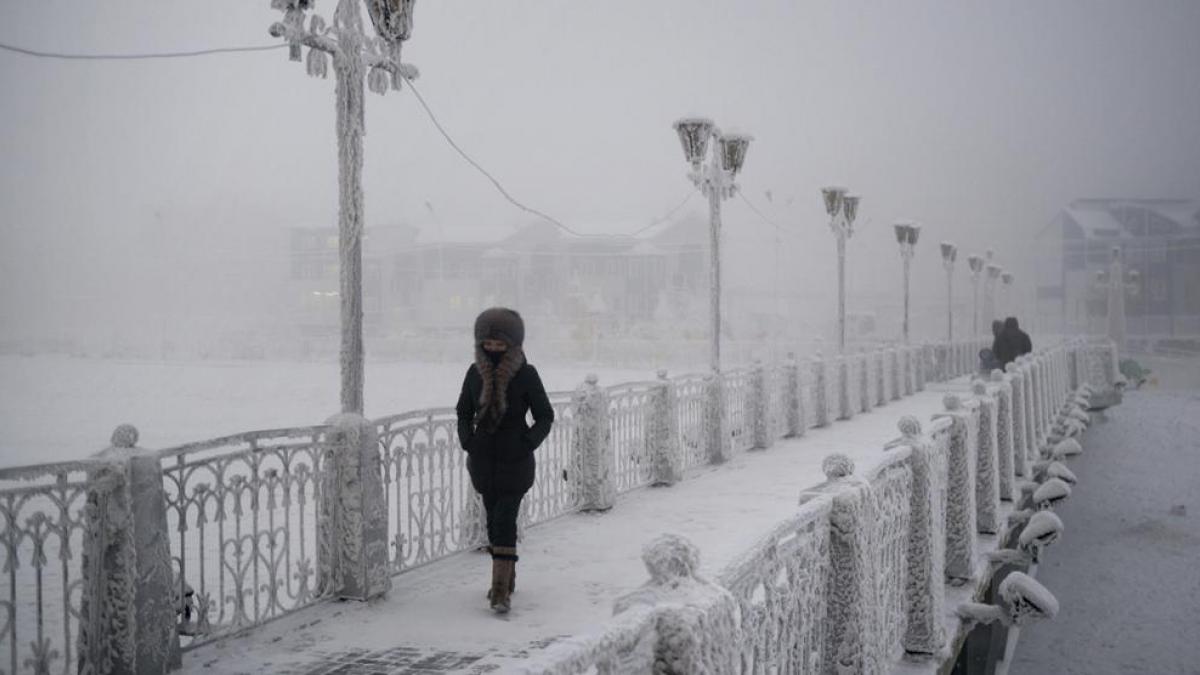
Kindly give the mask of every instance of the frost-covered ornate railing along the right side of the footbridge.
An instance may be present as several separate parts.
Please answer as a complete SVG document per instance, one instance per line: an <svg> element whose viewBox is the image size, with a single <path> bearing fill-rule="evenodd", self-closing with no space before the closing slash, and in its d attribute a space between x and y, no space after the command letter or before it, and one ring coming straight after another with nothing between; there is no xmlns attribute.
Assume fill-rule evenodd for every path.
<svg viewBox="0 0 1200 675"><path fill-rule="evenodd" d="M973 356L935 350L934 363L965 364L967 353ZM980 536L1015 545L1019 524L1000 518L1002 484L1009 485L1003 501L1015 508L1048 507L1034 502L1043 497L1033 488L1046 484L1046 466L1061 459L1061 408L1080 384L1112 387L1112 359L1104 342L1040 350L1007 374L978 378L970 393L947 394L946 412L924 429L916 418L901 419L901 437L865 470L856 472L845 455L826 458L828 480L804 490L799 509L713 581L696 573L695 546L660 537L643 556L650 580L618 599L612 621L527 670L607 671L620 653L602 637L617 626L623 645L650 644L658 662L688 664L689 671L875 674L905 655L943 658L955 639L946 623L948 589L990 574ZM670 616L642 621L646 611ZM1038 610L1025 604L1006 611L1020 621ZM631 627L642 633L630 635Z"/></svg>

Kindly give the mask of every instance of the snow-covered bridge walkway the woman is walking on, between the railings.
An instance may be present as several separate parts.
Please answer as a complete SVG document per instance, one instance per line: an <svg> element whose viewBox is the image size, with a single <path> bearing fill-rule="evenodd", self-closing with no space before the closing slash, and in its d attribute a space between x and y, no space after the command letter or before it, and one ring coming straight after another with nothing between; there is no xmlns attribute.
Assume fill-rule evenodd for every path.
<svg viewBox="0 0 1200 675"><path fill-rule="evenodd" d="M779 520L800 490L821 483L833 452L860 468L882 459L896 422L926 423L948 389L931 384L870 413L768 450L703 467L662 489L622 495L605 514L572 514L530 528L521 543L514 610L498 617L484 598L491 561L451 556L394 578L372 604L336 603L300 611L252 634L208 645L184 658L186 673L401 674L503 671L532 650L599 627L617 596L647 580L641 549L660 533L690 538L712 578Z"/></svg>

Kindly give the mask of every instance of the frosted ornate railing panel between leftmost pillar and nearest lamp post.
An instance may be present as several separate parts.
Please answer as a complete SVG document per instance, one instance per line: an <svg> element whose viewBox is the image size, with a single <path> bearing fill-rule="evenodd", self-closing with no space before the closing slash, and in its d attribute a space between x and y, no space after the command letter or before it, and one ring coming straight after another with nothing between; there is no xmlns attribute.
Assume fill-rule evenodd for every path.
<svg viewBox="0 0 1200 675"><path fill-rule="evenodd" d="M184 649L332 593L318 540L325 426L254 431L158 452ZM188 597L190 596L190 597Z"/></svg>

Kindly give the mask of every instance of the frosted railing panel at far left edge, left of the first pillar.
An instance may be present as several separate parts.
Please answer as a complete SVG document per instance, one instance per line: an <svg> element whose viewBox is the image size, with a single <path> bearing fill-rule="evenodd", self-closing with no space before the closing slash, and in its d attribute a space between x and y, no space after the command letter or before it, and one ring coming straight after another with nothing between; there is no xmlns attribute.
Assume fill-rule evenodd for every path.
<svg viewBox="0 0 1200 675"><path fill-rule="evenodd" d="M80 616L88 519L96 536L108 516L119 476L100 479L95 460L0 470L0 671L62 673L98 668L103 653L79 653L80 632L107 629ZM103 546L103 542L100 542ZM89 562L96 563L92 557ZM91 589L95 593L97 589Z"/></svg>

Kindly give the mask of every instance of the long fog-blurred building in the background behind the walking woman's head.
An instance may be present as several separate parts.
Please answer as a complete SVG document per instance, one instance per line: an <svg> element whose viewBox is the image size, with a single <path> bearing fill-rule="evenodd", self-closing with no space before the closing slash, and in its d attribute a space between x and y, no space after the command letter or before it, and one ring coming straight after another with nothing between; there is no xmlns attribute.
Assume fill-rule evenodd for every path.
<svg viewBox="0 0 1200 675"><path fill-rule="evenodd" d="M462 333L490 305L554 317L564 335L581 322L629 334L655 321L702 319L707 237L698 217L638 237L572 237L541 222L492 240L454 240L438 228L371 228L362 246L364 330ZM290 238L294 324L305 339L336 339L337 231L293 228Z"/></svg>

